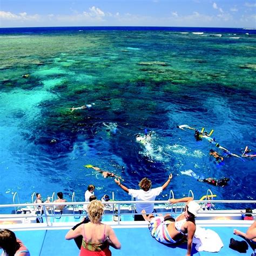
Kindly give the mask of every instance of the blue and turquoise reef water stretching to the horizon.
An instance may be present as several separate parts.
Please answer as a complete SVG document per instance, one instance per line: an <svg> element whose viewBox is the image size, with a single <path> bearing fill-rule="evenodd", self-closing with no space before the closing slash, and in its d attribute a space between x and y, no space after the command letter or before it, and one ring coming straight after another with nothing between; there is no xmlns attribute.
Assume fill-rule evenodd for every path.
<svg viewBox="0 0 256 256"><path fill-rule="evenodd" d="M256 152L255 30L205 28L0 29L1 203L63 191L83 200L130 199L83 165L112 171L136 188L173 180L158 199L203 196L255 199L256 159L227 157L197 142L188 124L233 153ZM22 75L29 74L28 78ZM91 104L87 109L71 110ZM109 127L107 127L109 126ZM150 145L136 142L145 129ZM222 164L209 156L214 149ZM228 177L225 187L181 174Z"/></svg>

